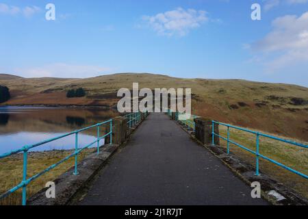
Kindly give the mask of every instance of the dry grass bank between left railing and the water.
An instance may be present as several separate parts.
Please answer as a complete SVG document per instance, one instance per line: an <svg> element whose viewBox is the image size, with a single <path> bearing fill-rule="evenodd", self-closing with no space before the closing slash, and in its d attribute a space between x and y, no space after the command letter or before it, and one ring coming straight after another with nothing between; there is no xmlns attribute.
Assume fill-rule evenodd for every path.
<svg viewBox="0 0 308 219"><path fill-rule="evenodd" d="M84 159L87 155L92 153L94 149L86 149L79 154L78 159ZM73 151L46 151L29 153L28 155L28 171L27 177L36 175L38 172L48 168L52 164L59 162L64 157L67 157L73 153ZM38 179L32 181L27 185L27 198L36 194L36 192L42 190L48 181L53 181L62 173L66 172L69 168L74 166L74 157L68 159L68 161L60 164L53 170L45 173ZM23 172L23 155L12 155L4 159L0 159L0 194L3 194L7 190L10 190L14 186L21 183ZM72 172L73 174L73 172ZM0 205L21 205L21 190L10 194L8 197L0 200Z"/></svg>

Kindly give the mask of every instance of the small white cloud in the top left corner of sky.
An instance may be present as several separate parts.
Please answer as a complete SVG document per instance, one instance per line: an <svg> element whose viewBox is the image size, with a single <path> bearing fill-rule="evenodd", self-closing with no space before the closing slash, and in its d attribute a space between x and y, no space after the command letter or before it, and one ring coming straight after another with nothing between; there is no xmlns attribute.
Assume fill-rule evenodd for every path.
<svg viewBox="0 0 308 219"><path fill-rule="evenodd" d="M19 8L14 5L7 5L5 3L0 3L0 14L9 14L9 15L17 15L23 14L23 16L29 18L40 12L40 8L37 6L26 6L25 8Z"/></svg>

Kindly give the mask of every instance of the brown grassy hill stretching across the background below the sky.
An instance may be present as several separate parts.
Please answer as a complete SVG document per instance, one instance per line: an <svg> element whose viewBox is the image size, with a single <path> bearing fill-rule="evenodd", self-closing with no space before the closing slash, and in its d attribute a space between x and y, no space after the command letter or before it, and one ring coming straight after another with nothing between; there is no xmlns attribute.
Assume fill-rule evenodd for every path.
<svg viewBox="0 0 308 219"><path fill-rule="evenodd" d="M119 88L192 88L192 113L224 123L308 140L308 88L283 83L232 79L180 79L166 75L122 73L87 79L22 78L0 75L10 88L5 105L105 105L117 103ZM82 87L83 98L66 98Z"/></svg>

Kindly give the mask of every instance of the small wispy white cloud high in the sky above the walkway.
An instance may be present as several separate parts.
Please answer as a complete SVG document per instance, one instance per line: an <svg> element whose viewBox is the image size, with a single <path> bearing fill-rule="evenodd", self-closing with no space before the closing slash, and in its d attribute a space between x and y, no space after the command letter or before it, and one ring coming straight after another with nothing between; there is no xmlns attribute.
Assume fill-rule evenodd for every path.
<svg viewBox="0 0 308 219"><path fill-rule="evenodd" d="M200 27L208 21L207 12L177 8L154 16L142 16L143 21L152 27L157 34L166 36L185 36L191 29Z"/></svg>

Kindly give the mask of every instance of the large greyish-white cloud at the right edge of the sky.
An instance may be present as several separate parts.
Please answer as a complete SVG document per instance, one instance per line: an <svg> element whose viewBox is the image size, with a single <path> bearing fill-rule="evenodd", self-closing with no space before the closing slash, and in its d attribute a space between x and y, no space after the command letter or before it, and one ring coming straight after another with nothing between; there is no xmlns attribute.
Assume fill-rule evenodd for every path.
<svg viewBox="0 0 308 219"><path fill-rule="evenodd" d="M286 15L272 21L272 31L251 44L260 52L268 70L277 70L308 62L308 12L301 16Z"/></svg>

